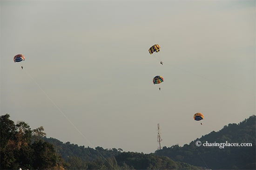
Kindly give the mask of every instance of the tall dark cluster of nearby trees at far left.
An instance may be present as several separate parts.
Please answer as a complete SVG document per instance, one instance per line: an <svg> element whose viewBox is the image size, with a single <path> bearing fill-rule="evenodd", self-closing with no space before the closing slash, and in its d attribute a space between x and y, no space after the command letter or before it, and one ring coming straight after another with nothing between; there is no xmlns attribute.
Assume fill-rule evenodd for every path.
<svg viewBox="0 0 256 170"><path fill-rule="evenodd" d="M0 118L0 169L50 169L58 160L53 145L41 140L43 127L31 130L27 123L14 124L10 115Z"/></svg>

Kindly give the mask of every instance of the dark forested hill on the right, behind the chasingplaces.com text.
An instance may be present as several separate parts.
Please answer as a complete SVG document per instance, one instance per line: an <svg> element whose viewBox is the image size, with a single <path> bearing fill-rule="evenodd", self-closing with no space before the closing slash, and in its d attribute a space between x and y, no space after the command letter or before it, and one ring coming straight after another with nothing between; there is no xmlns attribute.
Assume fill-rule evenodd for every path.
<svg viewBox="0 0 256 170"><path fill-rule="evenodd" d="M255 170L256 116L250 116L239 124L224 126L220 131L195 139L189 145L163 147L155 154L209 169Z"/></svg>

